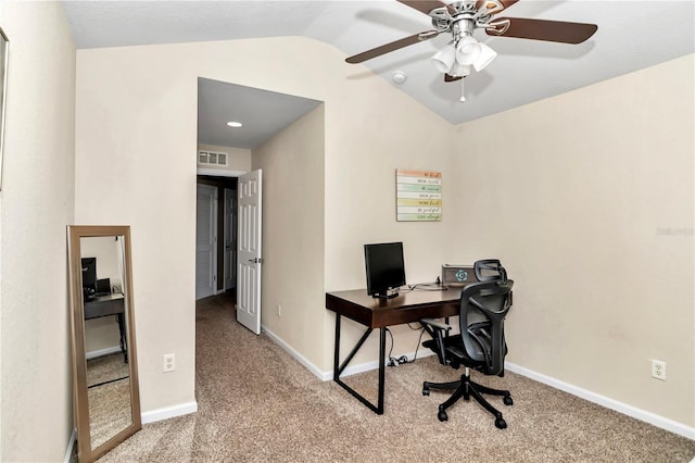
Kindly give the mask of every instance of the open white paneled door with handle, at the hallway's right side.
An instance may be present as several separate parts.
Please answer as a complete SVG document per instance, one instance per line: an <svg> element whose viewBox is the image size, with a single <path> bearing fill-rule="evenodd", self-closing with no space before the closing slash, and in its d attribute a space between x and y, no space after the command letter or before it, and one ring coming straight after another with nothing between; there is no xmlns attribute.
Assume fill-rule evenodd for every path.
<svg viewBox="0 0 695 463"><path fill-rule="evenodd" d="M261 170L239 177L237 321L261 334Z"/></svg>

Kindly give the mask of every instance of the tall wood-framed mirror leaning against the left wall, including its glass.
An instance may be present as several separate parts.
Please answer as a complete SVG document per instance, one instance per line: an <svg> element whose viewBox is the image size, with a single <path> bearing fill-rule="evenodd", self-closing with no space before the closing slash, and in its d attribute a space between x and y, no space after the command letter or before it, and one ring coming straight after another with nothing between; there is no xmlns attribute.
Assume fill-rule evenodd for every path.
<svg viewBox="0 0 695 463"><path fill-rule="evenodd" d="M77 455L91 462L141 427L130 227L68 226Z"/></svg>

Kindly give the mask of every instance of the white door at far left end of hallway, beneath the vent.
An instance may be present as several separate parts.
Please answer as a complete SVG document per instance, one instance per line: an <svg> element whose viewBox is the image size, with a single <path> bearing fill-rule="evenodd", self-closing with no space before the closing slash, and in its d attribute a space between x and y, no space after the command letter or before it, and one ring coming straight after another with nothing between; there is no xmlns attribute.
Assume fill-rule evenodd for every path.
<svg viewBox="0 0 695 463"><path fill-rule="evenodd" d="M217 188L198 185L195 217L195 299L217 288Z"/></svg>

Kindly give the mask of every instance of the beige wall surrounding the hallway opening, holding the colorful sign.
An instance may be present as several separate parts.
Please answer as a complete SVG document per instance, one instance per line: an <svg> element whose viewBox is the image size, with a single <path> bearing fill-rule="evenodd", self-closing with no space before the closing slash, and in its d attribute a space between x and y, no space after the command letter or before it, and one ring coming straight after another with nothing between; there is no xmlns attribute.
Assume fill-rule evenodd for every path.
<svg viewBox="0 0 695 463"><path fill-rule="evenodd" d="M283 50L279 55L278 48ZM276 58L257 60L268 53ZM277 79L278 73L285 78ZM194 400L197 163L190 153L197 147L199 77L327 102L324 182L330 186L324 193L323 259L329 289L363 286L362 245L380 239L409 243L406 259L413 268L426 268L414 271L412 280L432 279L439 272L444 255L435 243L444 236L443 224L396 224L393 184L396 167L443 171L451 127L384 80L365 78L364 68L344 63L333 48L285 37L80 50L77 77L76 217L132 226L144 412ZM299 182L302 166L293 168ZM349 236L348 225L354 227ZM431 239L433 250L418 246L421 239ZM306 284L309 293L325 290L320 280ZM304 309L323 317L332 333L323 299L315 304ZM263 310L267 312L265 304ZM324 356L318 366L327 370L332 336L314 336L317 345L300 353L315 358L318 352ZM177 371L164 375L162 355L168 352L177 355Z"/></svg>

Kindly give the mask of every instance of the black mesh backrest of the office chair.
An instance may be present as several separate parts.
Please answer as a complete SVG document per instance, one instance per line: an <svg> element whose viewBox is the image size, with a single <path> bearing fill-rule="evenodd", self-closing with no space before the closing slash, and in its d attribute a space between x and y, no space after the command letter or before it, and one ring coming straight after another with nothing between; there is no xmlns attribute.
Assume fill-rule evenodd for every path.
<svg viewBox="0 0 695 463"><path fill-rule="evenodd" d="M460 295L460 335L466 354L488 375L504 371L507 353L504 318L511 308L511 279L495 279L468 285Z"/></svg>

